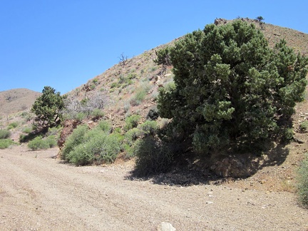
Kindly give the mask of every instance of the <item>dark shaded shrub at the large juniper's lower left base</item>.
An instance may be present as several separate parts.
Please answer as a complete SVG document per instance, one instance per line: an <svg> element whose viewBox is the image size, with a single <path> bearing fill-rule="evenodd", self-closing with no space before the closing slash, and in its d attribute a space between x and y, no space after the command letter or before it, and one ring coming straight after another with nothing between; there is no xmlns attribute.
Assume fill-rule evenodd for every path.
<svg viewBox="0 0 308 231"><path fill-rule="evenodd" d="M151 135L137 140L133 145L133 153L137 157L134 173L138 176L164 173L170 169L173 161L170 145Z"/></svg>

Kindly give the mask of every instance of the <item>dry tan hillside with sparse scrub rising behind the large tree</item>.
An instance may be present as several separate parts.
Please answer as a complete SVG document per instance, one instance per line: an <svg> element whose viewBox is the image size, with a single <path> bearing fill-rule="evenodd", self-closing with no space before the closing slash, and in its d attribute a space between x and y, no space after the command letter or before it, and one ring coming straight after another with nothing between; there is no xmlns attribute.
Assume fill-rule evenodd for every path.
<svg viewBox="0 0 308 231"><path fill-rule="evenodd" d="M285 39L287 46L294 48L294 51L308 53L308 34L272 24L260 24L252 19L242 20L255 24L265 34L270 46L274 46L280 39ZM230 22L232 20L215 20L217 25ZM130 114L137 112L145 116L150 108L155 108L154 100L158 96L158 87L165 86L173 80L172 67L162 70L161 66L153 62L153 58L156 58L155 51L163 46L172 46L176 40L178 39L145 51L139 56L121 60L101 75L69 92L68 98L78 98L81 101L97 94L104 94L109 99L106 114L115 126L123 125L125 116ZM142 89L145 89L146 96L142 101L135 103L135 98Z"/></svg>

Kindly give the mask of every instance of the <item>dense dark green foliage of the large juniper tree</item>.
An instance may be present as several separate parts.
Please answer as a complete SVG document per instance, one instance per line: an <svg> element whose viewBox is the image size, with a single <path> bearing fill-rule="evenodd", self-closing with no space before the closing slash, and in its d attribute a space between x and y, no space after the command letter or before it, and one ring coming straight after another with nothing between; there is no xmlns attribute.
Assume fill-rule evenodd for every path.
<svg viewBox="0 0 308 231"><path fill-rule="evenodd" d="M173 134L190 138L197 152L292 137L291 116L304 99L308 61L284 40L270 48L254 25L236 20L193 31L166 51L175 87L160 88L158 110L173 119Z"/></svg>

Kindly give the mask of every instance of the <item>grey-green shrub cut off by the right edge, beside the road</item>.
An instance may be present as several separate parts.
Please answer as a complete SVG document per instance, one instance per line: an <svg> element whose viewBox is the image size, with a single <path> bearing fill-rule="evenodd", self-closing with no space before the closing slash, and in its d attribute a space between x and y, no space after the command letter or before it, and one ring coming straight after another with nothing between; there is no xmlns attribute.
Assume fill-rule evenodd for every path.
<svg viewBox="0 0 308 231"><path fill-rule="evenodd" d="M308 207L308 155L302 161L297 171L297 195L299 202Z"/></svg>

